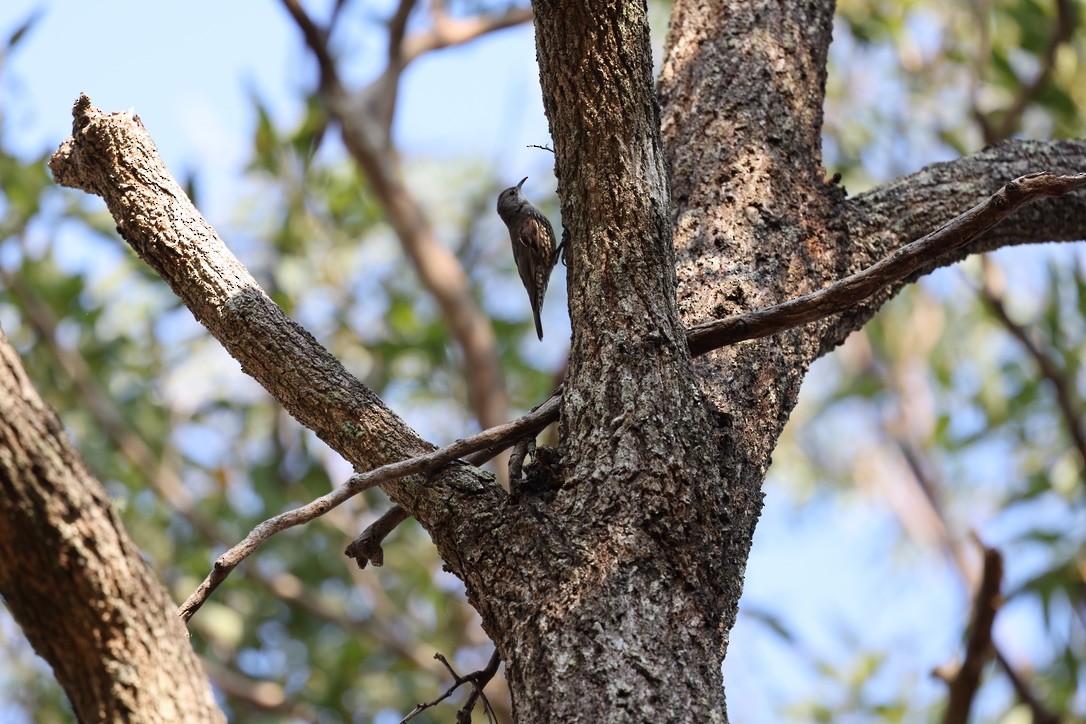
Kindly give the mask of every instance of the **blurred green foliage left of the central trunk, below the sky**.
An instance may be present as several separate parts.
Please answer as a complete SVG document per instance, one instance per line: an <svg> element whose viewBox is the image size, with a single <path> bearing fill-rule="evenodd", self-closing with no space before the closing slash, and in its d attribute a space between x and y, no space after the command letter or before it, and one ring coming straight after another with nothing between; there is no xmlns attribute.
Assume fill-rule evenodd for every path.
<svg viewBox="0 0 1086 724"><path fill-rule="evenodd" d="M441 442L477 430L443 320L365 179L328 148L320 106L307 100L283 127L261 98L252 103L247 201L218 225L224 239L288 314L424 434ZM52 185L47 161L0 148L0 326L182 600L227 545L351 470L209 338L116 238L99 200ZM519 285L496 224L456 211L484 200L489 215L496 181L470 160L408 162L408 172L424 165L457 190L426 202L468 263L480 303L493 302L481 290L495 279ZM197 181L189 192L200 205ZM525 312L495 318L521 407L548 394L554 373L521 353L519 342L533 334ZM193 643L231 720L399 721L449 685L435 651L462 673L485 665L493 647L418 525L390 536L394 564L358 571L342 555L388 505L369 492L270 542L193 619ZM3 626L3 710L68 720L43 664L10 620ZM500 706L503 684L489 693ZM463 697L415 721L447 721Z"/></svg>

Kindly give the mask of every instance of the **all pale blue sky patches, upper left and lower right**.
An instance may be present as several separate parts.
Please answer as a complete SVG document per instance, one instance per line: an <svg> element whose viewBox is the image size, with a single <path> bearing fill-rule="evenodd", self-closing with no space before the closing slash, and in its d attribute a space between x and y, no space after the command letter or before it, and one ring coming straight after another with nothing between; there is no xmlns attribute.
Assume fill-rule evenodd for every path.
<svg viewBox="0 0 1086 724"><path fill-rule="evenodd" d="M372 12L379 15L382 4ZM5 0L0 30L39 5ZM135 109L174 173L199 174L210 220L228 223L250 153L251 93L287 122L313 82L313 65L280 5L112 0L43 7L0 81L7 145L27 156L55 148L68 134L79 92L106 111ZM349 75L366 78L380 59L380 37L359 33L351 40ZM525 148L547 142L530 28L418 62L405 77L395 135L408 154L478 155L501 169L495 175L513 182L531 174L536 193L552 192L550 157ZM552 319L565 322L564 290L559 294L548 301L548 328ZM940 698L943 686L926 674L959 652L967 599L957 579L937 551L902 554L894 520L861 496L800 507L780 474L774 469L767 488L745 605L785 615L805 649L843 665L856 653L842 635L851 632L891 653L887 691L907 681L915 701ZM824 693L808 663L745 617L733 633L725 678L735 721L773 721L782 698Z"/></svg>

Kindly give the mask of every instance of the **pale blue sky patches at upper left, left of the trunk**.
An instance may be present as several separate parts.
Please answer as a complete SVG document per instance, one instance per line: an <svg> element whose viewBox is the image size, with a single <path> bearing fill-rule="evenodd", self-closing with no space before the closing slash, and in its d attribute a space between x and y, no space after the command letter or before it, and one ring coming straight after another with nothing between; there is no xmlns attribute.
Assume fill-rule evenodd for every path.
<svg viewBox="0 0 1086 724"><path fill-rule="evenodd" d="M80 92L103 110L135 109L175 174L199 169L215 205L211 215L229 207L229 188L249 155L250 96L289 122L312 87L314 66L277 2L9 0L0 28L39 7L43 16L3 78L12 145L52 149L67 135ZM379 35L364 30L339 43L376 51L341 51L355 80L376 73L383 49ZM540 163L539 152L523 148L548 142L530 28L420 59L407 71L394 132L411 153L482 154L516 167L514 180L529 160L536 174L547 170L548 160Z"/></svg>

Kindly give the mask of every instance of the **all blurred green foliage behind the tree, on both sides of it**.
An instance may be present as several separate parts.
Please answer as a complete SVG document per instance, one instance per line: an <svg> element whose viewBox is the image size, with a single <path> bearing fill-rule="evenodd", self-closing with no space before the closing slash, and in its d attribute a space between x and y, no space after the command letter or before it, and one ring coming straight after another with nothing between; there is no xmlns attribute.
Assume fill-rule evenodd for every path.
<svg viewBox="0 0 1086 724"><path fill-rule="evenodd" d="M653 8L656 28L662 5ZM1078 0L841 0L825 165L855 193L975 150L996 131L1086 135L1083 10ZM33 18L4 30L4 53L17 52ZM223 237L291 316L424 435L440 442L470 432L440 314L321 109L306 100L287 126L258 96L252 104L247 201L217 224ZM115 238L97 200L52 186L46 161L0 148L0 326L182 599L226 545L350 470L207 338ZM514 404L534 404L554 370L540 370L520 344L531 336L528 316L507 318L501 304L519 294L519 281L491 218L492 170L473 160L409 158L406 167L494 320ZM199 204L199 177L188 186ZM1010 314L1065 376L1081 414L1086 256L1033 247L995 258L1010 267ZM775 470L798 499L886 506L898 517L900 546L934 551L932 564L958 556L968 571L971 529L999 547L1007 609L1040 632L1020 652L1031 686L1053 711L1084 719L1084 461L1050 381L977 294L993 276L975 261L940 272L822 360ZM937 503L934 519L917 513L915 496L895 495L919 482ZM193 619L193 642L232 720L399 721L447 685L434 651L462 673L484 665L491 646L417 525L391 536L382 569L357 571L341 555L387 505L370 492L273 541ZM964 587L962 599L968 607ZM819 682L817 699L779 701L775 716L937 717L942 701L912 695L915 672L893 670L894 651L845 631L836 636L851 652L844 662L812 652L792 625L793 605L746 615ZM67 720L63 696L10 620L0 633L3 719ZM1020 715L1002 674L989 669L986 681L985 721ZM501 687L491 685L493 698ZM730 700L743 696L731 691ZM439 707L415 721L451 717Z"/></svg>

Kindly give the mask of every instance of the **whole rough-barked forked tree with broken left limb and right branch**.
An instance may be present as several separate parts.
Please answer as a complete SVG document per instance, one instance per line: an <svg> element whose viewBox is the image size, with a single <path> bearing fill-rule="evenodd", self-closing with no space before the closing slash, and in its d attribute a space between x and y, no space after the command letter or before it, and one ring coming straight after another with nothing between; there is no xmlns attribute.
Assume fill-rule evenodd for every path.
<svg viewBox="0 0 1086 724"><path fill-rule="evenodd" d="M662 107L643 1L535 11L573 328L559 449L530 468L550 492L507 496L467 465L382 487L464 579L518 721L723 721L720 661L776 437L809 364L893 290L696 364L682 325L822 288L1009 177L976 166L959 185L933 168L855 200L826 182L832 2L678 0ZM1082 150L1060 148L1065 166L1011 173L1032 153L1019 148L1005 170L1079 170ZM102 195L242 368L359 470L431 449L256 287L137 118L80 99L52 167ZM945 205L917 211L925 193ZM1046 203L1078 208L1082 195ZM1056 229L1028 211L976 249L1072 238L1081 219Z"/></svg>

